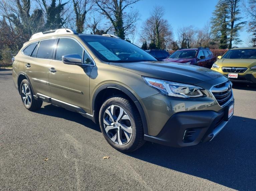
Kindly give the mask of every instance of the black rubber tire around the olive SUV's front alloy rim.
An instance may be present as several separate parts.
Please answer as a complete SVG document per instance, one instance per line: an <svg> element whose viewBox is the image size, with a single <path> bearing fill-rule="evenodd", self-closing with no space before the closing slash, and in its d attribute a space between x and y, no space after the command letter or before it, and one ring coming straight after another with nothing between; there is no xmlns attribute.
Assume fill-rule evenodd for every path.
<svg viewBox="0 0 256 191"><path fill-rule="evenodd" d="M107 132L105 130L103 118L104 118L104 115L106 115L105 111L110 106L117 107L117 108L121 107L130 118L129 123L131 124L131 127L132 127L132 135L131 135L131 139L129 140L129 142L127 142L125 144L120 145L120 144L112 141L109 137L109 134L107 134ZM127 116L125 113L124 113L124 116ZM121 122L122 122L122 120L121 120ZM120 122L120 124L121 124L121 122ZM140 148L145 143L144 131L143 131L143 125L142 125L140 113L137 110L136 106L130 100L128 100L122 96L120 96L120 97L112 96L112 97L107 98L104 101L104 103L102 104L100 111L99 111L99 124L100 124L101 132L102 132L104 138L106 139L106 141L113 148L115 148L118 151L132 152L132 151ZM120 126L120 131L122 131L122 133L123 133L123 134L122 133L121 134L124 135L125 131L121 127L123 127L123 126ZM118 132L118 130L113 130L113 131L116 131L116 134ZM126 135L127 135L127 133L126 133ZM126 136L124 135L123 137L125 139ZM128 140L128 139L126 139L126 140Z"/></svg>

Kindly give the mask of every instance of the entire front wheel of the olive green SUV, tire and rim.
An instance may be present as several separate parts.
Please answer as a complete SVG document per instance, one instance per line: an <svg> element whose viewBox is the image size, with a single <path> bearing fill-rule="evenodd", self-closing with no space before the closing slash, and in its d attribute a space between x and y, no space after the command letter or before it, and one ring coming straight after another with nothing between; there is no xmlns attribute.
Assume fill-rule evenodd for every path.
<svg viewBox="0 0 256 191"><path fill-rule="evenodd" d="M119 151L132 152L144 143L140 114L128 99L108 98L100 108L99 124L106 141Z"/></svg>

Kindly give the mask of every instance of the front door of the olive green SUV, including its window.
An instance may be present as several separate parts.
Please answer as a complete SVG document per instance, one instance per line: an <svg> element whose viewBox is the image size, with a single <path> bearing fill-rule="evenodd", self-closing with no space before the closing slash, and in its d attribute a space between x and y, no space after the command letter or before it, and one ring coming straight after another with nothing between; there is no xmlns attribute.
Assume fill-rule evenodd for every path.
<svg viewBox="0 0 256 191"><path fill-rule="evenodd" d="M59 38L54 59L48 67L51 97L90 113L89 80L93 66L64 64L61 58L67 54L79 54L84 60L89 57L74 39Z"/></svg>

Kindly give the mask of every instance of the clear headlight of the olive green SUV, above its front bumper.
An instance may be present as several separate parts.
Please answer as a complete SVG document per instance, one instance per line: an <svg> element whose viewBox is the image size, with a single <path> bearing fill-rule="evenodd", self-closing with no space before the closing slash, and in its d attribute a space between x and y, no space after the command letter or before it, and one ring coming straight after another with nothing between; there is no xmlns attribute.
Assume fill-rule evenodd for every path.
<svg viewBox="0 0 256 191"><path fill-rule="evenodd" d="M163 95L180 98L203 96L203 93L200 90L204 88L201 88L199 86L181 84L149 77L143 77L143 79L146 82L146 84L157 89Z"/></svg>

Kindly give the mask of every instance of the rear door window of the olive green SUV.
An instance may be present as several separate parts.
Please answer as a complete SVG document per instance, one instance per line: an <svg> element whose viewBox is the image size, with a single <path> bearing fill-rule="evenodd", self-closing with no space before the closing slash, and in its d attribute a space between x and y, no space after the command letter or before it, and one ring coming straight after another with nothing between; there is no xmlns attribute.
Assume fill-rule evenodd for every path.
<svg viewBox="0 0 256 191"><path fill-rule="evenodd" d="M52 59L56 39L49 39L41 41L37 50L36 57L44 59Z"/></svg>

